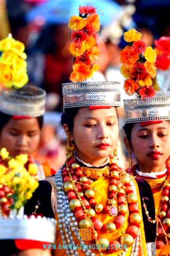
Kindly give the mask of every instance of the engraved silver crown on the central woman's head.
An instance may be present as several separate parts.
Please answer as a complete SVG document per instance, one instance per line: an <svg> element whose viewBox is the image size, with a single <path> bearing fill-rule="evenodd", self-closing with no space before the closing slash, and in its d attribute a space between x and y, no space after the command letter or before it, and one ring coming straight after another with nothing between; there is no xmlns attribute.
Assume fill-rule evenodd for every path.
<svg viewBox="0 0 170 256"><path fill-rule="evenodd" d="M62 84L63 108L88 106L121 106L120 83L82 82Z"/></svg>

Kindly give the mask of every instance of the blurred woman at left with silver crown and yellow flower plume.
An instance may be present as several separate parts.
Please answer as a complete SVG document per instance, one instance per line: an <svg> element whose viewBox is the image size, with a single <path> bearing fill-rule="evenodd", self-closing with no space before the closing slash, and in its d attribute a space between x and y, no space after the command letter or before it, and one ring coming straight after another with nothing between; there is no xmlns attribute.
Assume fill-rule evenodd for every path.
<svg viewBox="0 0 170 256"><path fill-rule="evenodd" d="M9 35L0 41L0 51L0 83L6 87L1 91L0 147L12 157L28 154L29 162L38 165L38 179L42 180L55 173L32 158L39 146L46 92L34 86L23 87L28 76L21 42Z"/></svg>

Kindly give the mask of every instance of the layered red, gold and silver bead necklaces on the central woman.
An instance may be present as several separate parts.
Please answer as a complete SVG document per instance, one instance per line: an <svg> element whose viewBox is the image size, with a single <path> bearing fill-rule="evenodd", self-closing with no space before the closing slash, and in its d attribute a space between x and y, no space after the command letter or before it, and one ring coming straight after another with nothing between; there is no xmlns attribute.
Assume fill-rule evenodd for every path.
<svg viewBox="0 0 170 256"><path fill-rule="evenodd" d="M94 198L95 193L99 193L100 195L102 194L95 187L90 188L90 182L81 171L80 165L76 163L76 159L74 157L71 157L68 161L66 160L65 166L62 168L62 182L58 182L59 180L61 181L61 179L59 178L58 180L56 180L56 183L58 182L58 184L56 185L58 191L57 203L59 207L59 228L62 239L64 239L63 243L66 243L65 237L67 237L66 234L69 234L68 232L76 231L76 235L78 235L78 224L79 228L91 229L91 239L92 242L94 242L96 245L98 244L97 248L99 251L99 255L103 255L103 253L100 250L99 244L104 244L105 251L107 253L113 253L118 251L115 250L115 244L127 244L127 247L131 247L132 245L133 247L135 247L134 239L136 239L138 235L141 216L139 214L139 208L137 204L138 198L136 195L136 191L134 189L134 186L132 185L133 181L131 181L130 176L127 175L126 172L123 172L123 170L120 167L118 167L113 158L110 158L109 168L110 173L108 177L110 179L110 184L108 187L108 198L103 196L105 199L107 199L107 205L103 206L102 204L97 203ZM64 184L64 191L61 189L62 184ZM65 208L67 206L67 212L69 211L69 215L72 217L72 219L74 219L74 224L76 223L76 226L74 227L75 230L70 231L69 229L72 226L67 225L67 223L63 221L63 218L61 216L61 193L63 194L62 199L65 200ZM118 206L116 206L116 198L118 201ZM125 233L124 224L128 212L130 223L128 226L128 230ZM98 213L109 214L110 216L113 217L115 216L115 221L103 224L96 217ZM119 241L109 241L104 237L98 237L99 230L104 234L106 232L112 233L116 229L122 230ZM80 241L80 243L83 242L79 235L78 240ZM69 243L69 241L67 242ZM114 249L111 248L112 244L114 244ZM135 248L133 248L133 251L135 251ZM68 253L69 252L67 252L67 255L69 255ZM86 255L93 255L93 253L91 252L85 253ZM119 255L124 255L124 253L126 253L126 251L123 251Z"/></svg>

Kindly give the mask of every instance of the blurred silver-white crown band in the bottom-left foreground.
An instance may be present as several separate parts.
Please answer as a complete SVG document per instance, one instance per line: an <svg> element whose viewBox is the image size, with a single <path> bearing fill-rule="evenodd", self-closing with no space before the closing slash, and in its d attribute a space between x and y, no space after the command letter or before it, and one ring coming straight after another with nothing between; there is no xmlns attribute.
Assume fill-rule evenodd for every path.
<svg viewBox="0 0 170 256"><path fill-rule="evenodd" d="M0 217L0 239L30 239L55 243L56 220L27 215Z"/></svg>

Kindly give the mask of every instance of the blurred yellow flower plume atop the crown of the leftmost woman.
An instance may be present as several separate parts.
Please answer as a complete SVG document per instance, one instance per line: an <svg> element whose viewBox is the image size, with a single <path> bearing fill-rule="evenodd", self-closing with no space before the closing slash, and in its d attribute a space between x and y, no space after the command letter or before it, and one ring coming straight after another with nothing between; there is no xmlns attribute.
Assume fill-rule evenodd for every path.
<svg viewBox="0 0 170 256"><path fill-rule="evenodd" d="M21 88L28 82L24 49L24 44L10 35L0 41L0 83L7 88Z"/></svg>

